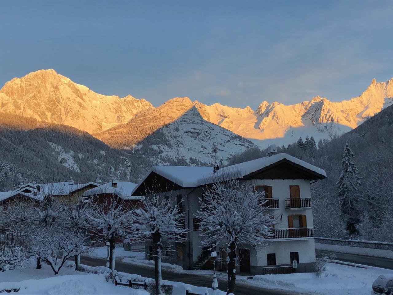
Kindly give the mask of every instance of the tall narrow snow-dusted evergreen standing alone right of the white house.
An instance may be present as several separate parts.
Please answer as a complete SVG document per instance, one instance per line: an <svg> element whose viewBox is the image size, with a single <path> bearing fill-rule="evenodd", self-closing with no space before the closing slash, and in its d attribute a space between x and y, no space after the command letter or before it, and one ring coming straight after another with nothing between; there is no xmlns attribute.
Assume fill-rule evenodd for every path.
<svg viewBox="0 0 393 295"><path fill-rule="evenodd" d="M359 196L356 194L360 185L360 179L353 158L354 154L347 142L344 147L341 175L337 181L337 195L341 203L342 215L347 223L349 234L356 234L358 232L356 225L360 222L360 210L358 209Z"/></svg>

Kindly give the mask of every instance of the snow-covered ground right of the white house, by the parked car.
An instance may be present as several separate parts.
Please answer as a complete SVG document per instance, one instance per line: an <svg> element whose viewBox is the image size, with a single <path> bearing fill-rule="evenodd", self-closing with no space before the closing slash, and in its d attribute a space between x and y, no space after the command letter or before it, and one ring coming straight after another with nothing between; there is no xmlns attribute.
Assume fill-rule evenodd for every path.
<svg viewBox="0 0 393 295"><path fill-rule="evenodd" d="M367 269L328 263L321 278L314 273L288 275L257 275L242 282L265 288L286 289L319 294L370 294L374 280L379 275L393 274L393 270L366 266Z"/></svg>

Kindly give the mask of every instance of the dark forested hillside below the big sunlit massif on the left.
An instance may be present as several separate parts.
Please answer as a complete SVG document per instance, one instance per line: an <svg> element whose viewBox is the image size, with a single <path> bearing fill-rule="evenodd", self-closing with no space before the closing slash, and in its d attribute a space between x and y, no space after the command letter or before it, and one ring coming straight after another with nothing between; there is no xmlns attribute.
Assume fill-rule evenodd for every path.
<svg viewBox="0 0 393 295"><path fill-rule="evenodd" d="M73 127L42 125L16 115L0 115L0 149L0 191L32 181L105 182L117 177L136 182L152 165Z"/></svg>

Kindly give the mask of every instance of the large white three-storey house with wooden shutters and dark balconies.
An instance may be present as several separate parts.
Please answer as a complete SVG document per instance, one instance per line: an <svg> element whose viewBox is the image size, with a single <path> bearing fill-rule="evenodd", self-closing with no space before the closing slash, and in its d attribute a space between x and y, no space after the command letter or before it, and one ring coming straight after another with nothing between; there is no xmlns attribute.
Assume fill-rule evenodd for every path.
<svg viewBox="0 0 393 295"><path fill-rule="evenodd" d="M233 173L236 171L237 173ZM296 260L298 271L313 271L315 262L314 232L310 183L326 178L324 170L286 153L270 154L219 169L219 167L154 166L136 186L132 195L144 195L155 187L163 197L177 202L189 229L187 241L176 243L176 252L165 252L163 262L181 265L184 269L207 268L210 253L201 247L195 213L200 208L198 198L212 182L214 173L230 173L236 179L252 181L268 199L265 206L278 224L274 237L261 249L238 249L241 259L237 271L262 274L268 269L290 266ZM217 175L219 175L217 174ZM158 186L157 186L158 184ZM147 259L152 246L147 245ZM216 249L219 258L226 254ZM225 268L225 265L221 265ZM284 268L280 268L284 269Z"/></svg>

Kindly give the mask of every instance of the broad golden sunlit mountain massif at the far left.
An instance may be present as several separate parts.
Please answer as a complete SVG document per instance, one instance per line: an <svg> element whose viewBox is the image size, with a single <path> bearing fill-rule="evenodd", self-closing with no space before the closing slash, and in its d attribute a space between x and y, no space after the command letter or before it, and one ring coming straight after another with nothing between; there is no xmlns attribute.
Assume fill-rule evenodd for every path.
<svg viewBox="0 0 393 295"><path fill-rule="evenodd" d="M88 133L128 122L151 103L128 95L106 96L54 70L39 70L8 81L0 89L0 111L64 124Z"/></svg>

